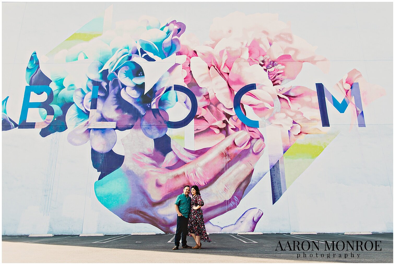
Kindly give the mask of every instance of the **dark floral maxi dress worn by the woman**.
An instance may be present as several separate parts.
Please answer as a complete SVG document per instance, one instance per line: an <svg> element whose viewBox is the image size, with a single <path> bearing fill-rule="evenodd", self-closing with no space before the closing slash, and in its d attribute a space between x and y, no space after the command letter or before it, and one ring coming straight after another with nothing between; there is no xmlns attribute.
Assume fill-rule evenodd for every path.
<svg viewBox="0 0 395 265"><path fill-rule="evenodd" d="M198 205L204 205L204 202L201 199L200 195L192 197L191 200L191 213L188 221L188 235L191 236L190 233L192 233L197 236L201 236L201 241L211 242L211 239L207 235L206 227L204 225L203 210L201 210L201 208L199 208L198 210L194 210L193 208L194 206Z"/></svg>

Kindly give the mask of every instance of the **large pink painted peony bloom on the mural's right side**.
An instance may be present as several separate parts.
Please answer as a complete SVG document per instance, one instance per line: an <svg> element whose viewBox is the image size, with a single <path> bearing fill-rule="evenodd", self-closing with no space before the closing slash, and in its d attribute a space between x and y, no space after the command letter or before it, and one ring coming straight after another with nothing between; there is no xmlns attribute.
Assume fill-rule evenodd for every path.
<svg viewBox="0 0 395 265"><path fill-rule="evenodd" d="M291 99L294 102L301 100L284 91L292 93L296 88L276 87L295 79L303 62L310 62L326 72L329 62L315 54L316 47L293 35L290 24L278 21L278 15L274 14L235 12L216 18L210 28L210 38L211 41L194 47L197 57L190 56L190 84L205 91L204 98L198 97L200 115L195 119L195 142L202 139L199 144L207 143L203 143L203 139L210 136L213 141L209 144L216 143L222 140L225 127L228 133L245 130L254 138L263 137L258 129L243 125L233 111L235 94L251 83L256 83L257 89L246 93L241 103L252 108L258 117L292 135L315 133L311 127L307 129L299 122L307 119L307 124L318 126L315 118L319 119L320 115L315 114L317 111L319 114L319 110L314 109L312 117L308 113L312 110L290 105ZM308 95L311 96L314 95ZM305 104L310 106L311 102ZM200 138L200 134L204 137Z"/></svg>

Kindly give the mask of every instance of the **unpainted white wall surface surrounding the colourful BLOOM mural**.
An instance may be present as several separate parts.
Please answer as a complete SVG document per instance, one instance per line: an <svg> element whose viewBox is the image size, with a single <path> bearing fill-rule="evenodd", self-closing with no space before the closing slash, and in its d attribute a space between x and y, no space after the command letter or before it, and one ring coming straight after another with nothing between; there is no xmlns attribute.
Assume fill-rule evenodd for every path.
<svg viewBox="0 0 395 265"><path fill-rule="evenodd" d="M274 205L270 174L239 206L211 220L226 226L247 209L260 208L255 231L393 231L393 13L392 3L117 3L113 24L140 15L186 24L200 44L209 40L215 17L234 11L278 13L293 34L317 46L329 59L328 74L305 64L290 85L330 89L353 68L386 91L364 106L366 127L350 129L350 110L328 105L331 129L339 135ZM2 99L19 120L26 64L33 51L46 54L109 7L107 3L2 4ZM333 92L333 95L335 93ZM98 202L93 183L99 173L90 146L72 146L67 134L42 138L35 129L2 132L2 234L126 234L160 229L122 221ZM259 167L256 167L259 170Z"/></svg>

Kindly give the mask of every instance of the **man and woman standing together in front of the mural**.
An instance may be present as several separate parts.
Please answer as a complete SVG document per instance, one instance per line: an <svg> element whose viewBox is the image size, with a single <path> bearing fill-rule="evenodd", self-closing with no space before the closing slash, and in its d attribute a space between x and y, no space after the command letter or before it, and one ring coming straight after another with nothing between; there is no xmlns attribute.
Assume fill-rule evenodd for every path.
<svg viewBox="0 0 395 265"><path fill-rule="evenodd" d="M192 199L189 197L189 192L192 193ZM175 246L173 250L177 250L180 246L182 248L201 248L201 242L211 242L207 236L206 227L203 220L203 211L201 206L204 205L200 197L199 187L193 185L191 188L186 185L183 193L177 196L174 207L177 212L177 230L175 232ZM186 244L186 235L195 239L196 246L191 247Z"/></svg>

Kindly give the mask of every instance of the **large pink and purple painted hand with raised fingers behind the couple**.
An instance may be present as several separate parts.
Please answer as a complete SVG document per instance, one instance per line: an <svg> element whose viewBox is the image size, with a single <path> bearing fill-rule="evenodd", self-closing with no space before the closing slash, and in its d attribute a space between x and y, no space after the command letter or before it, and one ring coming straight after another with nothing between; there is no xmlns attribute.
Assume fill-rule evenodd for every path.
<svg viewBox="0 0 395 265"><path fill-rule="evenodd" d="M177 169L162 167L165 159L139 122L122 139L122 166L95 182L98 200L129 223L150 223L164 232L176 225L174 202L184 185L198 185L209 221L235 208L263 153L262 140L247 132L229 135L195 160Z"/></svg>

